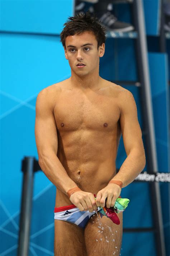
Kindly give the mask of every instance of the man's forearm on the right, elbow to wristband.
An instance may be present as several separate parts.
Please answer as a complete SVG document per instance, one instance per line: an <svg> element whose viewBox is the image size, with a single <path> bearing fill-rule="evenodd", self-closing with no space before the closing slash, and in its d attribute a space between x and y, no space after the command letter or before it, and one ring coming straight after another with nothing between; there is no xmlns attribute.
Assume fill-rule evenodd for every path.
<svg viewBox="0 0 170 256"><path fill-rule="evenodd" d="M132 150L112 180L121 180L123 187L126 187L141 173L145 164L145 154Z"/></svg>

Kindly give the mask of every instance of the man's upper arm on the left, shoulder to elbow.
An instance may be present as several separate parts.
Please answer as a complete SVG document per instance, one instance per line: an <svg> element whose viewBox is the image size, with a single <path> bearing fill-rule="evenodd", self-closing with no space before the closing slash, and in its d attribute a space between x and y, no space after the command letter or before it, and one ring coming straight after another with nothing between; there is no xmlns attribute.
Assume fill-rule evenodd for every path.
<svg viewBox="0 0 170 256"><path fill-rule="evenodd" d="M39 159L51 150L57 154L58 148L57 127L48 96L43 89L36 101L35 137Z"/></svg>

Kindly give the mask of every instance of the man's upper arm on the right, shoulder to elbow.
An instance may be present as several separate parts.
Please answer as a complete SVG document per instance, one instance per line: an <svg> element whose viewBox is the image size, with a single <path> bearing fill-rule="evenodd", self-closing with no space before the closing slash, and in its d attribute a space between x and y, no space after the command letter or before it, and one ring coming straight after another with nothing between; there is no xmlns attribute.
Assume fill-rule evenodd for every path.
<svg viewBox="0 0 170 256"><path fill-rule="evenodd" d="M126 89L125 89L126 90ZM137 118L137 107L133 94L126 90L121 97L120 124L123 143L128 155L132 149L143 150L142 132Z"/></svg>

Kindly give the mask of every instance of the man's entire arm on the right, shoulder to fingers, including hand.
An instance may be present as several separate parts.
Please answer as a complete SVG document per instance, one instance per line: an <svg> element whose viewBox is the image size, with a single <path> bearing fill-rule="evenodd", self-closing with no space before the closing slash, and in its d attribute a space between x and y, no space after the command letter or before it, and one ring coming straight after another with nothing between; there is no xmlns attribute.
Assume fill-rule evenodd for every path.
<svg viewBox="0 0 170 256"><path fill-rule="evenodd" d="M130 184L143 170L146 164L145 150L142 141L142 132L137 119L137 107L133 94L123 89L119 96L120 102L120 124L123 136L124 147L127 158L123 162L119 172L112 180L120 180L123 187ZM96 205L99 207L113 207L115 200L119 197L121 188L117 184L108 184L96 195Z"/></svg>

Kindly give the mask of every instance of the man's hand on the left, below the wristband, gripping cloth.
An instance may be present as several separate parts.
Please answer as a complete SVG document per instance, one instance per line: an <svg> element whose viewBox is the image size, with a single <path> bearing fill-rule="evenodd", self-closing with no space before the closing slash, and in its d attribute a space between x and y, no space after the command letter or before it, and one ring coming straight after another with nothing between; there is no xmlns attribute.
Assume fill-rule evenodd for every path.
<svg viewBox="0 0 170 256"><path fill-rule="evenodd" d="M97 210L95 197L92 193L77 191L70 197L70 201L79 208L80 211L93 212Z"/></svg>

